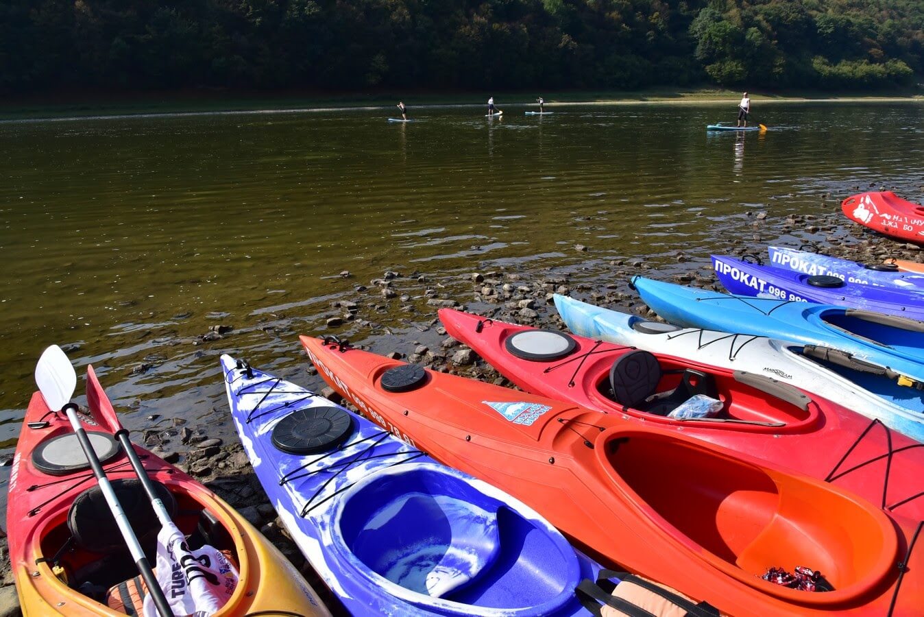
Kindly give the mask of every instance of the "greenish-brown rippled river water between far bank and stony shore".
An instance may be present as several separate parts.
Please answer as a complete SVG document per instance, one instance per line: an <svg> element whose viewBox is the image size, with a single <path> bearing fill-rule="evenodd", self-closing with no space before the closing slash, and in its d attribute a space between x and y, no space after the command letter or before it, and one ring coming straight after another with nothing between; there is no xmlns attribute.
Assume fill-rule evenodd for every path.
<svg viewBox="0 0 924 617"><path fill-rule="evenodd" d="M463 303L486 270L622 284L611 262L707 266L752 241L757 212L924 192L920 103L756 103L771 130L740 135L704 130L734 103L499 107L0 123L0 458L53 343L97 369L129 428L183 417L233 439L221 353L291 376L297 333L439 340L419 295L367 296L371 324L326 328L385 271ZM197 339L216 325L234 331Z"/></svg>

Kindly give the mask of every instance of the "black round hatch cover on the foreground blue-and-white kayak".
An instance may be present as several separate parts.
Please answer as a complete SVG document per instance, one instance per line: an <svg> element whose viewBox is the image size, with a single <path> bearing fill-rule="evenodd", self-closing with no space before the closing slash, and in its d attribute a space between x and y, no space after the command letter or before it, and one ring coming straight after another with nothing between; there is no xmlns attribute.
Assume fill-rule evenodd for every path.
<svg viewBox="0 0 924 617"><path fill-rule="evenodd" d="M332 450L353 432L353 418L333 405L307 407L279 420L273 445L289 454L317 454Z"/></svg>

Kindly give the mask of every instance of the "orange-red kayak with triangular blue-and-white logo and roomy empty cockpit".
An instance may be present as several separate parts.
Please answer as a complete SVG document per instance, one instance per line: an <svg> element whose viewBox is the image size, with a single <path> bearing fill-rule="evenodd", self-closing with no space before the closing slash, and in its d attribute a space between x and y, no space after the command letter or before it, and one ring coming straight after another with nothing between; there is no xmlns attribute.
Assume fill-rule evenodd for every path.
<svg viewBox="0 0 924 617"><path fill-rule="evenodd" d="M301 341L324 380L384 428L529 503L603 560L720 611L924 606L924 550L911 539L921 526L849 491L676 430ZM763 578L796 567L832 590Z"/></svg>

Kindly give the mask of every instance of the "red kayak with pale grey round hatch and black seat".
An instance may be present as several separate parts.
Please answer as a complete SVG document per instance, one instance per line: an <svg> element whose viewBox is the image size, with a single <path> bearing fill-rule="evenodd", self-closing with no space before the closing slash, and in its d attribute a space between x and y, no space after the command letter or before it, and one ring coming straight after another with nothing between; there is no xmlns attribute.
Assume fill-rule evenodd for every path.
<svg viewBox="0 0 924 617"><path fill-rule="evenodd" d="M440 320L447 333L529 393L682 431L833 481L893 515L924 520L924 444L841 405L753 373L584 336L486 320L453 309L441 309ZM530 345L529 339L531 354L521 348ZM557 341L565 343L555 346ZM535 358L538 345L556 353ZM646 389L637 396L616 395L614 382L617 389L624 384L644 384ZM697 393L720 400L721 411L712 417L683 417L681 405ZM617 403L617 398L628 405Z"/></svg>

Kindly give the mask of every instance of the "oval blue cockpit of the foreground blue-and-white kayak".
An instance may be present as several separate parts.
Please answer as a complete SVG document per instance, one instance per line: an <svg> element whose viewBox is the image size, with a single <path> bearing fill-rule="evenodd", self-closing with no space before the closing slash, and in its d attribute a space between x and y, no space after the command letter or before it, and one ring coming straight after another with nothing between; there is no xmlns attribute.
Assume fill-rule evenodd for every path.
<svg viewBox="0 0 924 617"><path fill-rule="evenodd" d="M433 464L383 469L338 506L334 549L421 608L546 614L564 605L579 582L574 550L493 491Z"/></svg>

